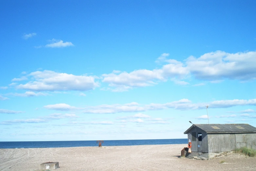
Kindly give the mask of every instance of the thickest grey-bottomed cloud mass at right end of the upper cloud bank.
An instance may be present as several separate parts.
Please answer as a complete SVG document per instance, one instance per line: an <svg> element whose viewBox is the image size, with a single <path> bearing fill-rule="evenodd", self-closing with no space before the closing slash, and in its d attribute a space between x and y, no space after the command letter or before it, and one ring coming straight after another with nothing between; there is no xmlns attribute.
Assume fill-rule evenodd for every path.
<svg viewBox="0 0 256 171"><path fill-rule="evenodd" d="M200 58L189 57L186 65L196 78L248 80L256 78L255 57L256 51L235 54L216 51L206 53Z"/></svg>

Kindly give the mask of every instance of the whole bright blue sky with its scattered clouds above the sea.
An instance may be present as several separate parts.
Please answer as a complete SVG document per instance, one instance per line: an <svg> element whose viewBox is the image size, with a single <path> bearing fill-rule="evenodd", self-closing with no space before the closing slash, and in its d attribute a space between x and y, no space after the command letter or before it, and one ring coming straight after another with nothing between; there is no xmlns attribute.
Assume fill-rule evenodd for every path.
<svg viewBox="0 0 256 171"><path fill-rule="evenodd" d="M256 1L4 1L0 141L256 127Z"/></svg>

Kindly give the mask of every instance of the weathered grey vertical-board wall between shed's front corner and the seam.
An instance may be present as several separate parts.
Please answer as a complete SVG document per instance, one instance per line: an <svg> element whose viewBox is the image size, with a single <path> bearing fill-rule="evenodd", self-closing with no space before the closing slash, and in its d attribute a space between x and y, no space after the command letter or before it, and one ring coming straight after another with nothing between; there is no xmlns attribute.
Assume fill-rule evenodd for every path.
<svg viewBox="0 0 256 171"><path fill-rule="evenodd" d="M209 152L225 152L231 151L234 147L234 136L231 134L208 134L208 150ZM232 140L233 139L233 140Z"/></svg>

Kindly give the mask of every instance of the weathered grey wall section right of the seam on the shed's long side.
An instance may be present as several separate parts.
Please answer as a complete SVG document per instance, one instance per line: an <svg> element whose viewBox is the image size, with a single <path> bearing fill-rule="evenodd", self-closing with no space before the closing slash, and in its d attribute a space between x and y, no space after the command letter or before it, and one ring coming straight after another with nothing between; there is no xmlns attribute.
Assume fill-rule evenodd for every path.
<svg viewBox="0 0 256 171"><path fill-rule="evenodd" d="M235 134L236 148L248 147L256 149L256 134Z"/></svg>

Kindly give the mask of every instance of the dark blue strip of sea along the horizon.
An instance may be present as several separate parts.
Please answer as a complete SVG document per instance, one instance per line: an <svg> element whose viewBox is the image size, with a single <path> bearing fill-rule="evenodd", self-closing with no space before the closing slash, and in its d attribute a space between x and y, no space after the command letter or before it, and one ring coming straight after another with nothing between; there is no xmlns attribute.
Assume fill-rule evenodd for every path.
<svg viewBox="0 0 256 171"><path fill-rule="evenodd" d="M102 146L118 145L162 145L187 144L187 139L159 139L159 140L106 140ZM0 148L52 148L52 147L81 147L98 146L96 141L19 141L0 142Z"/></svg>

